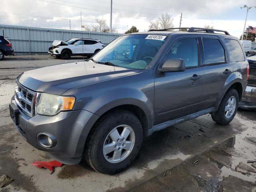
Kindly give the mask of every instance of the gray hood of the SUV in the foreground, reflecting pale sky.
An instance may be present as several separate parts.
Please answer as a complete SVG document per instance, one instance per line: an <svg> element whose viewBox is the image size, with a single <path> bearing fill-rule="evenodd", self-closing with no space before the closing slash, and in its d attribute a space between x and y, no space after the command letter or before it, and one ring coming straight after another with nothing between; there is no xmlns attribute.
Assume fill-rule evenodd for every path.
<svg viewBox="0 0 256 192"><path fill-rule="evenodd" d="M26 71L17 80L35 92L61 95L68 89L111 78L140 72L136 69L121 68L88 62L59 64Z"/></svg>

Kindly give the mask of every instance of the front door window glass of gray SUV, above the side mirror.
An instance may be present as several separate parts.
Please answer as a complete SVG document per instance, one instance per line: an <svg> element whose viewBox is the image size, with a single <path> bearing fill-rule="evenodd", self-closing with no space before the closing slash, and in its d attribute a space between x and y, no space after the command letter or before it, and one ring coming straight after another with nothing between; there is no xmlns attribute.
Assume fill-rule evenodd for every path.
<svg viewBox="0 0 256 192"><path fill-rule="evenodd" d="M180 39L176 41L166 59L183 59L186 67L198 66L198 44L196 39Z"/></svg>

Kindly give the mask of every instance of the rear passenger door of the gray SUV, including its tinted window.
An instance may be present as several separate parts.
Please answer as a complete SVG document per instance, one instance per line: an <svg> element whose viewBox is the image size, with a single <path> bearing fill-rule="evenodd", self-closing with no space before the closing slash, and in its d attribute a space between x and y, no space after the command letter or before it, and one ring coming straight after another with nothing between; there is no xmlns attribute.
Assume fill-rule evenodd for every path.
<svg viewBox="0 0 256 192"><path fill-rule="evenodd" d="M218 36L202 36L200 45L204 50L204 103L202 106L206 109L218 105L226 80L234 78L232 77L233 66Z"/></svg>

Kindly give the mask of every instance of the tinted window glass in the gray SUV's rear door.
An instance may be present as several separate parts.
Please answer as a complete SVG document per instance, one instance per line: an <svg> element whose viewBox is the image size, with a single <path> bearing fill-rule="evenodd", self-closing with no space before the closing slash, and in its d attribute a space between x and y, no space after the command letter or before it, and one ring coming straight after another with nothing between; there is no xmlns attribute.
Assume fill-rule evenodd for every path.
<svg viewBox="0 0 256 192"><path fill-rule="evenodd" d="M203 39L204 64L225 63L225 51L218 39Z"/></svg>

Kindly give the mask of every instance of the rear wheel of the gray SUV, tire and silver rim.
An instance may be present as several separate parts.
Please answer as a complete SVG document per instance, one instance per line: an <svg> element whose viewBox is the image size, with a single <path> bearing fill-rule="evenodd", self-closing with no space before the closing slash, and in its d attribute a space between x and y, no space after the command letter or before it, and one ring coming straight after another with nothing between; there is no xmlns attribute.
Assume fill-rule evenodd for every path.
<svg viewBox="0 0 256 192"><path fill-rule="evenodd" d="M235 99L235 100L234 100ZM230 103L234 102L234 104L230 105ZM235 89L230 89L226 92L222 101L220 102L220 106L216 112L212 114L212 120L221 125L229 124L236 115L239 103L238 92ZM235 105L235 106L234 106ZM227 106L227 108L226 108ZM230 110L227 110L227 109Z"/></svg>

